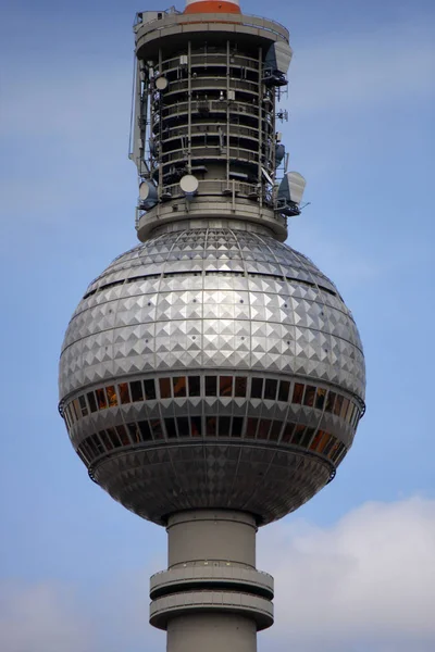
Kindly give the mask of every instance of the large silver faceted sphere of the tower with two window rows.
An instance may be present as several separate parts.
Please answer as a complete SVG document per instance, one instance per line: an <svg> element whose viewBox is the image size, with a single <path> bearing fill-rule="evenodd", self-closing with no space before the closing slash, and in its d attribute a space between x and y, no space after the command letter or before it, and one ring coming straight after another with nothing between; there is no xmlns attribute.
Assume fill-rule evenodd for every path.
<svg viewBox="0 0 435 652"><path fill-rule="evenodd" d="M61 412L91 478L158 524L296 510L364 410L351 313L304 255L243 222L162 227L94 280L66 331Z"/></svg>

